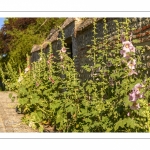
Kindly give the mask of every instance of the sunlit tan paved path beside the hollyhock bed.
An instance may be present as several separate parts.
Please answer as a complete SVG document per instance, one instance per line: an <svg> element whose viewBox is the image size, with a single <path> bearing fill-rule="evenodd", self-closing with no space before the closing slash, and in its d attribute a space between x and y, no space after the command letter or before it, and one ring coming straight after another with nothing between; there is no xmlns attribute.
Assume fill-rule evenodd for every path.
<svg viewBox="0 0 150 150"><path fill-rule="evenodd" d="M37 132L21 122L22 114L16 113L16 100L9 98L10 92L0 92L0 132Z"/></svg>

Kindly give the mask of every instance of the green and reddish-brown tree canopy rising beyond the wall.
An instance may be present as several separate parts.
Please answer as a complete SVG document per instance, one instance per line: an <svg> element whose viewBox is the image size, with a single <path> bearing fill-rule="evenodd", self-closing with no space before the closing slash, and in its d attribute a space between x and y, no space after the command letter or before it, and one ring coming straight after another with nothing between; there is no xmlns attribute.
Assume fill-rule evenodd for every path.
<svg viewBox="0 0 150 150"><path fill-rule="evenodd" d="M65 18L6 18L0 30L1 64L11 63L16 69L24 66L26 54L34 44L41 44L52 28L61 25Z"/></svg>

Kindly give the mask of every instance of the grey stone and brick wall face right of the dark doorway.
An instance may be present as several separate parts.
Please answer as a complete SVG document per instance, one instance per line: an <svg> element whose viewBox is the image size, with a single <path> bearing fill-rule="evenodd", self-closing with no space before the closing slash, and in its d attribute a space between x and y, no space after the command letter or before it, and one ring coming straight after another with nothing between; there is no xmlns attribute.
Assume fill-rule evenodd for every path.
<svg viewBox="0 0 150 150"><path fill-rule="evenodd" d="M109 35L109 41L112 43L112 49L113 46L116 44L117 35L116 35L116 26L115 22L113 20L116 19L119 22L122 22L125 20L125 18L107 18L107 24L108 24L108 35ZM136 28L136 30L133 31L133 44L134 46L144 46L144 45L150 45L150 18L130 18L130 29ZM76 44L77 44L77 59L76 63L78 65L77 69L82 73L81 78L88 78L89 75L83 71L81 68L84 64L89 64L90 61L85 58L86 52L88 51L87 45L92 44L92 33L93 27L92 25L89 25L86 28L83 28L83 30L78 31L76 34ZM121 30L120 30L121 32ZM97 22L97 37L100 38L99 43L102 43L102 37L103 37L103 20L100 19ZM139 40L138 43L134 43L134 40ZM121 41L120 41L121 43ZM150 51L146 50L144 61L147 64L147 72L150 74Z"/></svg>

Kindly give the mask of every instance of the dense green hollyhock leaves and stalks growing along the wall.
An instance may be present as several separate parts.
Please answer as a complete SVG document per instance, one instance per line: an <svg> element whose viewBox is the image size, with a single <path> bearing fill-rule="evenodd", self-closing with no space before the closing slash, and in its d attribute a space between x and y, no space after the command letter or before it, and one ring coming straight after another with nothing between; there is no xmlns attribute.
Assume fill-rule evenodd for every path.
<svg viewBox="0 0 150 150"><path fill-rule="evenodd" d="M18 74L9 64L5 72L1 70L6 87L17 92L23 121L30 127L39 132L43 132L45 125L59 132L150 132L150 79L142 67L145 49L137 46L135 55L130 54L131 60L137 60L138 74L129 75L128 62L120 54L120 31L129 40L130 20L125 18L122 23L114 20L118 37L113 48L105 18L103 22L101 45L96 37L96 20L93 23L92 45L86 57L90 63L82 66L89 74L84 82L66 53L63 31L59 57L53 55L49 43L49 53L41 51L40 59L30 68L27 62L26 72ZM137 83L144 84L140 91L144 97L137 100L140 109L132 110L129 93Z"/></svg>

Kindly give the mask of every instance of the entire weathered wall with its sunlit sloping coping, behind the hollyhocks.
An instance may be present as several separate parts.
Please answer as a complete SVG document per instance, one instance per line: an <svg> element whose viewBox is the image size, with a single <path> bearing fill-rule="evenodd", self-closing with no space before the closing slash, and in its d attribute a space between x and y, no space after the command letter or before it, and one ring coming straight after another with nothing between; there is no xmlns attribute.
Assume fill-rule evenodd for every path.
<svg viewBox="0 0 150 150"><path fill-rule="evenodd" d="M109 41L112 43L112 47L117 40L116 36L116 25L113 20L118 20L118 22L123 22L125 18L106 18L107 30L109 35ZM133 43L134 45L150 45L150 18L130 18L130 28L135 28L132 30L133 39L139 39L139 43ZM103 18L97 18L97 37L99 38L99 43L102 42L103 38ZM70 57L77 56L75 59L75 65L78 71L82 71L81 66L86 63L86 52L88 50L87 45L92 44L93 36L93 18L80 19L80 18L68 18L65 20L61 27L64 31L65 42L67 43L68 52L70 52ZM121 34L121 33L120 33ZM42 45L34 45L31 51L31 61L36 61L39 58L39 51L43 49L48 52L48 42L52 43L52 49L55 54L56 50L61 49L61 42L58 38L61 37L60 30L52 30L50 35L48 35L46 42ZM149 48L148 48L149 49ZM150 67L149 51L146 52L145 61L147 67Z"/></svg>

